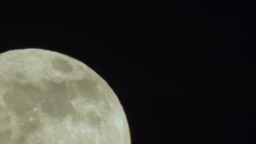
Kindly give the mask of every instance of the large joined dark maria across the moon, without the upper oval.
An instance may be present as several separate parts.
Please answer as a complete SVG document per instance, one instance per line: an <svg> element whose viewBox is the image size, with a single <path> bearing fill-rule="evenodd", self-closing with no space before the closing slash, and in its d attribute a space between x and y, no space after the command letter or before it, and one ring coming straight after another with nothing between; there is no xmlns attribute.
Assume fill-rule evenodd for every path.
<svg viewBox="0 0 256 144"><path fill-rule="evenodd" d="M106 95L98 91L97 83L91 79L84 78L82 80L63 81L62 83L56 83L50 80L46 83L48 89L45 91L34 87L31 83L16 83L7 93L2 95L5 109L15 113L15 115L21 117L22 121L24 121L21 121L21 125L19 126L22 135L16 141L25 142L26 135L32 133L42 125L40 117L38 117L38 111L34 111L35 108L40 107L42 113L57 119L57 121L61 121L67 116L71 116L74 123L78 123L78 121L84 122L86 119L86 123L92 127L99 125L104 118L98 116L90 108L88 108L86 115L82 115L82 113L74 109L71 101L77 97L86 99L88 104L94 102L97 105L97 101L104 101L103 104L106 109L103 111L110 109L108 99L105 97ZM2 110L5 109L3 107ZM9 116L4 119L0 118L0 123L5 121L5 123L10 124L10 118ZM7 143L4 141L10 140L11 134L11 127L0 131L1 141Z"/></svg>

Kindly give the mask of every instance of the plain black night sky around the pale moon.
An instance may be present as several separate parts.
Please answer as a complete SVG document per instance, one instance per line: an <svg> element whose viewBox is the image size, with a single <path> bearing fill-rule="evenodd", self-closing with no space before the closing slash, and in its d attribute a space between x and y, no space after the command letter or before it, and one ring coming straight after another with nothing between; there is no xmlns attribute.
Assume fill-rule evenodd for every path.
<svg viewBox="0 0 256 144"><path fill-rule="evenodd" d="M133 144L255 143L254 6L2 5L0 51L36 47L86 63L117 93Z"/></svg>

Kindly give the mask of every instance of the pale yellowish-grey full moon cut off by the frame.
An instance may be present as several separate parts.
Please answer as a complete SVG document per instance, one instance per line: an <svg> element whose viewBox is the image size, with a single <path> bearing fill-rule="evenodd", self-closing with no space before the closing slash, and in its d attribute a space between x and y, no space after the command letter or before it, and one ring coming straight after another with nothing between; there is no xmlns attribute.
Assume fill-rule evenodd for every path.
<svg viewBox="0 0 256 144"><path fill-rule="evenodd" d="M1 144L130 144L123 107L86 64L44 49L0 54Z"/></svg>

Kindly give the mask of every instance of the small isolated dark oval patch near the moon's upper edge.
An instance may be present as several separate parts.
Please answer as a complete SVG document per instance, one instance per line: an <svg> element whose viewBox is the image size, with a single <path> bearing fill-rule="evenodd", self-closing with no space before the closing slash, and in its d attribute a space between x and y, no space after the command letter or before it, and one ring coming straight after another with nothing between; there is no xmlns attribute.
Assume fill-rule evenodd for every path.
<svg viewBox="0 0 256 144"><path fill-rule="evenodd" d="M51 61L51 65L53 65L53 69L62 71L63 73L71 73L73 71L72 65L65 59L54 59Z"/></svg>

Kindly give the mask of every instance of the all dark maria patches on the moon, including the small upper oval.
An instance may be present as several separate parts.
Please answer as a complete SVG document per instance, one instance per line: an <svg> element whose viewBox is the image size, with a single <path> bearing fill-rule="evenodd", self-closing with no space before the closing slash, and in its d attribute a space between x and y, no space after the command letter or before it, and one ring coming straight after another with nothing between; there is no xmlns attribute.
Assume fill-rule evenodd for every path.
<svg viewBox="0 0 256 144"><path fill-rule="evenodd" d="M50 62L50 65L50 69L56 70L63 77L74 72L73 66L65 59L56 58ZM27 135L34 133L43 125L39 111L56 121L62 121L67 116L71 116L74 123L86 119L86 122L92 127L96 127L104 121L104 117L98 115L90 107L86 115L74 109L71 101L78 97L88 101L84 105L91 103L103 105L103 108L98 107L98 109L110 112L110 96L106 95L105 90L102 91L101 87L99 90L97 81L92 80L91 77L67 81L61 80L63 77L59 76L57 79L40 80L41 83L46 83L46 88L43 90L30 82L15 81L15 79L26 79L26 76L19 72L16 73L12 82L5 83L9 90L3 95L0 94L4 104L0 104L0 143L26 143ZM19 117L19 119L15 119L13 116Z"/></svg>

